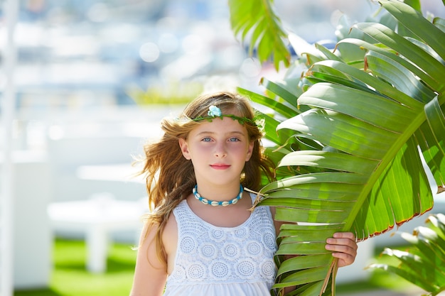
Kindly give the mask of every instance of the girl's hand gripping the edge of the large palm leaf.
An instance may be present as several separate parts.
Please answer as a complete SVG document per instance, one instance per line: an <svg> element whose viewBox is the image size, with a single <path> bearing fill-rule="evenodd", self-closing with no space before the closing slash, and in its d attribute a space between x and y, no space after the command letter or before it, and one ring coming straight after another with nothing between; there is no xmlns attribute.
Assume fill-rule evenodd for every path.
<svg viewBox="0 0 445 296"><path fill-rule="evenodd" d="M354 263L358 246L352 232L336 232L326 243L326 250L333 251L332 256L338 258L338 267Z"/></svg>

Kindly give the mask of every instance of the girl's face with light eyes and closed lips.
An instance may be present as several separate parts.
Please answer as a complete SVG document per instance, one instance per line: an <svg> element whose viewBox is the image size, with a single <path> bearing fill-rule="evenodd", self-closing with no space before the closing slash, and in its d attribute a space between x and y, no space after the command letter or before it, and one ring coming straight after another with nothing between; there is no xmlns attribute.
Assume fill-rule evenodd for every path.
<svg viewBox="0 0 445 296"><path fill-rule="evenodd" d="M245 126L227 117L203 121L187 139L180 139L179 145L184 157L193 163L196 180L213 185L239 184L253 149Z"/></svg>

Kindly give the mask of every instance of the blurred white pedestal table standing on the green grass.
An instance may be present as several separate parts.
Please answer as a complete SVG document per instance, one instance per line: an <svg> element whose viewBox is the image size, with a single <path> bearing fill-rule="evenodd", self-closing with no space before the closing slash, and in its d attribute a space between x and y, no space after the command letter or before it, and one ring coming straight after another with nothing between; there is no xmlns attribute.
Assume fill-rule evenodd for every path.
<svg viewBox="0 0 445 296"><path fill-rule="evenodd" d="M134 231L137 243L144 212L147 212L147 207L142 200L130 202L107 196L48 205L53 231L85 234L87 270L91 273L103 273L107 269L109 234L112 231Z"/></svg>

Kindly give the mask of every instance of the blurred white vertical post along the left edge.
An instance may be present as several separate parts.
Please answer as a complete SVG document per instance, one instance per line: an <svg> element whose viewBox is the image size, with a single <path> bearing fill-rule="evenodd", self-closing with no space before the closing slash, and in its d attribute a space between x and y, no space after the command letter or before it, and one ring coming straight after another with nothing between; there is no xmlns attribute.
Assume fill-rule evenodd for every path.
<svg viewBox="0 0 445 296"><path fill-rule="evenodd" d="M3 146L3 163L1 165L0 187L0 296L12 296L14 293L13 267L13 162L12 162L12 128L16 109L16 92L14 87L14 67L16 65L16 48L14 28L18 14L18 0L4 2L6 18L6 43L3 60L4 92L1 104L1 145Z"/></svg>

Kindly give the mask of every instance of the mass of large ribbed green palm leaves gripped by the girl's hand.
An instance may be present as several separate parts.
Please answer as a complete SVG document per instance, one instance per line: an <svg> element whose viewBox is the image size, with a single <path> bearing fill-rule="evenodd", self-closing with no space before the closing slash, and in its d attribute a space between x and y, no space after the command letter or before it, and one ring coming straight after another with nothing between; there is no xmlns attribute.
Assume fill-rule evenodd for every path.
<svg viewBox="0 0 445 296"><path fill-rule="evenodd" d="M275 218L286 223L278 293L297 286L288 295L335 295L328 282L335 283L336 260L324 250L326 238L354 231L368 239L431 209L422 156L444 190L445 22L424 18L419 1L412 1L417 9L379 2L396 26L358 23L335 53L321 45L306 50L310 68L298 83L263 80L270 99L251 96L276 110L267 115L266 138L281 148L282 174L261 190L259 204L276 207ZM297 108L288 106L295 97Z"/></svg>

